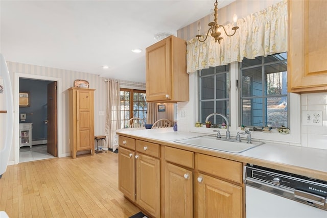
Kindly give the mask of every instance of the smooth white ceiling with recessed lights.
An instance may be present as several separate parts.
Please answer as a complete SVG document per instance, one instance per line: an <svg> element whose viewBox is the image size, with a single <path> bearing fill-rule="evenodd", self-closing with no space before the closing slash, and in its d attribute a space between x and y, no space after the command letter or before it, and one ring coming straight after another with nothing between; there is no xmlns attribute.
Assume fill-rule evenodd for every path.
<svg viewBox="0 0 327 218"><path fill-rule="evenodd" d="M233 1L220 0L218 6ZM176 35L213 5L213 0L0 0L0 52L6 61L145 82L145 49L157 41L155 34ZM143 51L131 52L136 48Z"/></svg>

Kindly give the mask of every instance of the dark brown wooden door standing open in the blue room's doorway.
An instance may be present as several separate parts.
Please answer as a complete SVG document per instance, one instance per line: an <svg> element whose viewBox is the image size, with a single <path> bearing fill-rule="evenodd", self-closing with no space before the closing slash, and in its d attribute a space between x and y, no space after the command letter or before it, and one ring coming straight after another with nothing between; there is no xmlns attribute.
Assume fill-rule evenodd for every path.
<svg viewBox="0 0 327 218"><path fill-rule="evenodd" d="M57 81L48 84L48 153L57 157Z"/></svg>

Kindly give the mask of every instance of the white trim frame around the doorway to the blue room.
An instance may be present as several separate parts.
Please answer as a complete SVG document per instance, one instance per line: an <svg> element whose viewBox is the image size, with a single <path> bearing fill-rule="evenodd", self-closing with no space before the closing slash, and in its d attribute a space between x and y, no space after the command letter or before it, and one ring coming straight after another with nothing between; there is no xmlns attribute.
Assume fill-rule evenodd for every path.
<svg viewBox="0 0 327 218"><path fill-rule="evenodd" d="M31 80L42 80L42 81L55 81L57 83L57 89L55 91L55 94L57 96L57 128L56 128L56 152L57 152L57 156L61 157L61 152L62 152L62 146L61 146L61 141L62 141L62 133L60 130L62 129L62 122L61 122L61 117L62 117L62 109L61 109L61 95L58 93L61 93L59 90L61 90L61 78L53 78L53 77L44 77L44 76L38 76L38 75L30 75L30 74L21 74L18 72L14 73L14 111L17 111L17 113L14 113L14 163L18 164L19 162L21 162L19 159L19 150L20 150L20 131L19 131L19 123L20 123L20 114L19 114L19 88L20 88L20 79L31 79ZM32 97L33 98L33 97ZM41 120L42 122L45 122L46 119ZM42 141L42 140L40 140ZM42 143L42 142L41 142ZM33 148L28 148L30 149L31 153L32 152L43 152L44 151L44 144L39 144L39 145L34 145L35 147ZM41 148L43 146L43 149ZM48 147L48 144L46 144L46 147ZM25 150L25 148L24 148ZM33 151L33 150L37 150L37 151ZM48 149L46 149L48 150ZM46 152L48 153L48 151ZM39 155L41 156L41 155ZM48 154L49 156L49 154ZM52 157L54 157L53 155L51 155ZM49 158L47 156L44 156L44 159Z"/></svg>

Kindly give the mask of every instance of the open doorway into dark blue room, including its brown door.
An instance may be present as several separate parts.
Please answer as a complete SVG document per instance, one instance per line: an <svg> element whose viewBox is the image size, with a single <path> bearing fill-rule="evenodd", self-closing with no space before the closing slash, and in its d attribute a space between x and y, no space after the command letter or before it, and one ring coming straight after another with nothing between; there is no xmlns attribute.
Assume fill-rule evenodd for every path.
<svg viewBox="0 0 327 218"><path fill-rule="evenodd" d="M19 79L20 163L57 157L56 86L56 81Z"/></svg>

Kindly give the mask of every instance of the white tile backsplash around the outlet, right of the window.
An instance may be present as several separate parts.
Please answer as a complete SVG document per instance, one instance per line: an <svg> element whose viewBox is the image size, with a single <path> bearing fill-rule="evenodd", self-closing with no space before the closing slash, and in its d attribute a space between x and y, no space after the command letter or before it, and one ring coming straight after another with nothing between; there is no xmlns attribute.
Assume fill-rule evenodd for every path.
<svg viewBox="0 0 327 218"><path fill-rule="evenodd" d="M327 92L301 94L303 111L322 111L322 126L305 126L301 120L301 145L327 149Z"/></svg>

